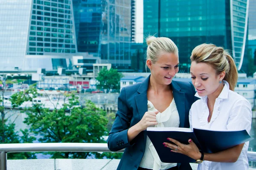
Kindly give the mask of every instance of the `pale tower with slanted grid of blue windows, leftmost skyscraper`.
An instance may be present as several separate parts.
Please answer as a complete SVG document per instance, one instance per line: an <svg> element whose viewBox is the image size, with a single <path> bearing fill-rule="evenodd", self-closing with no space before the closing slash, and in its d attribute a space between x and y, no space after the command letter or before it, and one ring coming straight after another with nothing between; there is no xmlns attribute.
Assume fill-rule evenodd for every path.
<svg viewBox="0 0 256 170"><path fill-rule="evenodd" d="M0 1L0 69L67 68L76 53L71 0Z"/></svg>

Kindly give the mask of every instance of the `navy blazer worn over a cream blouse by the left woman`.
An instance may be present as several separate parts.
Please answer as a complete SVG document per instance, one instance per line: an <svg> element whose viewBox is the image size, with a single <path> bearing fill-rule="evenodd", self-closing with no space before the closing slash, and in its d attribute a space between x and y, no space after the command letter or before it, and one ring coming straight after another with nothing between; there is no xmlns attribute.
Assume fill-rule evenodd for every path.
<svg viewBox="0 0 256 170"><path fill-rule="evenodd" d="M146 130L139 133L132 142L127 131L137 124L148 111L147 90L150 76L141 83L122 88L118 97L118 111L108 136L108 148L118 151L125 148L117 170L137 170L145 152ZM189 127L189 110L197 100L195 88L190 82L173 81L173 97L180 116L180 127ZM178 164L180 170L192 170L189 163Z"/></svg>

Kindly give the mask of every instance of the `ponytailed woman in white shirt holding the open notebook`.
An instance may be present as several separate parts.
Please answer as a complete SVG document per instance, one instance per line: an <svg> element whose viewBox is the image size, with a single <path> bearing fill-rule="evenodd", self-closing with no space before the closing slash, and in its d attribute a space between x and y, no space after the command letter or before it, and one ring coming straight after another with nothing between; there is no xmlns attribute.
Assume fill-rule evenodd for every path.
<svg viewBox="0 0 256 170"><path fill-rule="evenodd" d="M192 51L190 74L199 100L189 113L190 127L209 130L247 130L250 132L252 112L250 103L234 92L238 79L235 62L221 47L201 44ZM172 152L185 154L201 164L198 170L248 170L249 142L218 153L203 153L189 139L189 144L169 138L165 143Z"/></svg>

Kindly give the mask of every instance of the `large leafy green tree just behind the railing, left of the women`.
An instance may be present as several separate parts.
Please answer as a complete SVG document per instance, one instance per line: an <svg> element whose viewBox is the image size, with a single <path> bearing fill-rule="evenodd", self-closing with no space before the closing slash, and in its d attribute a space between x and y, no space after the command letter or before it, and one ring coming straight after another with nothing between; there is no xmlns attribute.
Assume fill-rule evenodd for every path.
<svg viewBox="0 0 256 170"><path fill-rule="evenodd" d="M39 142L106 143L103 136L108 135L107 113L96 108L93 102L86 101L85 105L81 106L78 96L64 94L63 107L57 109L55 105L53 111L50 111L49 108L44 108L44 105L33 102L33 98L38 95L35 88L30 88L24 93L19 92L12 96L12 103L14 106L19 106L25 101L32 102L32 107L24 109L27 114L24 122L30 126L29 131L35 134ZM52 158L85 159L104 156L119 158L112 153L55 152L49 154Z"/></svg>

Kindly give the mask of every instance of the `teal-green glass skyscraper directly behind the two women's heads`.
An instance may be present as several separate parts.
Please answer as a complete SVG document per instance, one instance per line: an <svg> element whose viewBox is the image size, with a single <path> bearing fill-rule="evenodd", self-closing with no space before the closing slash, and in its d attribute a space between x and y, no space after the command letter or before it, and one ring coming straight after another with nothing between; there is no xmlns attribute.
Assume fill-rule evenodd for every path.
<svg viewBox="0 0 256 170"><path fill-rule="evenodd" d="M238 70L247 39L249 0L144 0L144 35L171 38L179 48L180 71L189 72L195 46L229 49Z"/></svg>

